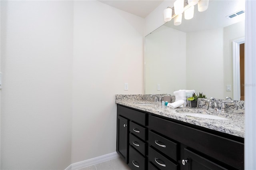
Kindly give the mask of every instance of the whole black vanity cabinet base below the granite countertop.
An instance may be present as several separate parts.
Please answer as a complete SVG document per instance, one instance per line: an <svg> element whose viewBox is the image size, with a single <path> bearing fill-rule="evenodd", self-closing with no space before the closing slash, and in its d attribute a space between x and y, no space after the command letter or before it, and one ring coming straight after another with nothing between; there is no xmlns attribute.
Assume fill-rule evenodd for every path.
<svg viewBox="0 0 256 170"><path fill-rule="evenodd" d="M116 146L132 170L244 170L243 138L122 105Z"/></svg>

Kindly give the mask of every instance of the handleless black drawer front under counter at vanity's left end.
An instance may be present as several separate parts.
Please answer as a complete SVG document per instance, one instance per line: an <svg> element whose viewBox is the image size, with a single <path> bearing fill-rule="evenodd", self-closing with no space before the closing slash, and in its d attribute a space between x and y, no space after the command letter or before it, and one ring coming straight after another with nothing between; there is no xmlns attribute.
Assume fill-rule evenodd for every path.
<svg viewBox="0 0 256 170"><path fill-rule="evenodd" d="M117 105L117 113L130 119L132 121L136 121L137 123L145 126L146 125L146 113L142 113L140 111L136 111L127 107L123 107L121 105Z"/></svg>

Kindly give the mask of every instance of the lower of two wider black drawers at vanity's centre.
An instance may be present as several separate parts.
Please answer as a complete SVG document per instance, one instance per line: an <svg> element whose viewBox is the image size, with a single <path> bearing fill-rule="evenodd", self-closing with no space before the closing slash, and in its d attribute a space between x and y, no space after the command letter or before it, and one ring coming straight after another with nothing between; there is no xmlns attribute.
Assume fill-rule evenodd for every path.
<svg viewBox="0 0 256 170"><path fill-rule="evenodd" d="M174 164L151 147L148 147L148 159L160 170L177 170L178 168L177 164Z"/></svg>

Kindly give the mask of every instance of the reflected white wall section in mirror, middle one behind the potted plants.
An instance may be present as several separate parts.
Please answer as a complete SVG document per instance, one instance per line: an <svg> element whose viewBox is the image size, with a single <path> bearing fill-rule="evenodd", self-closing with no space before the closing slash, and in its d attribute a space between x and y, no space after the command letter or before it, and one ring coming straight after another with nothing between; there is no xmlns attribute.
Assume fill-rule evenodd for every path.
<svg viewBox="0 0 256 170"><path fill-rule="evenodd" d="M187 33L186 88L222 99L223 29Z"/></svg>

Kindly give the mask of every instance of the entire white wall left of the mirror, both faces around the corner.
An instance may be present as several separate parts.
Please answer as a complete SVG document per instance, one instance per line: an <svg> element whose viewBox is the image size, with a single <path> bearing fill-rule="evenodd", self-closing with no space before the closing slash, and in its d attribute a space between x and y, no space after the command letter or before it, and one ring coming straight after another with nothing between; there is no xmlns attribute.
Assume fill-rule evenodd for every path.
<svg viewBox="0 0 256 170"><path fill-rule="evenodd" d="M98 1L1 1L1 169L115 152L114 97L143 93L143 40L144 19Z"/></svg>

